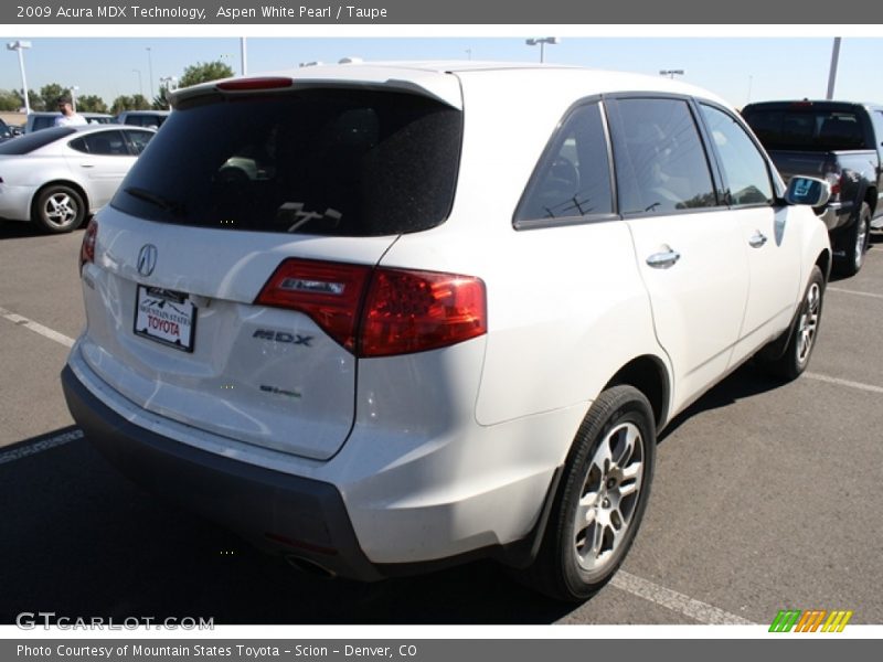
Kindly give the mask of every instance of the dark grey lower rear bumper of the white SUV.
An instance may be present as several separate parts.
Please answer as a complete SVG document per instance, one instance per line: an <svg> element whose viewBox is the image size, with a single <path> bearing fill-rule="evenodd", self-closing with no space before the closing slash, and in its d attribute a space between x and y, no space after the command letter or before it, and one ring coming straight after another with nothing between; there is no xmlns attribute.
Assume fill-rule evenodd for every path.
<svg viewBox="0 0 883 662"><path fill-rule="evenodd" d="M147 491L333 574L365 581L384 576L360 548L334 485L179 444L107 407L70 366L61 376L67 406L86 438Z"/></svg>

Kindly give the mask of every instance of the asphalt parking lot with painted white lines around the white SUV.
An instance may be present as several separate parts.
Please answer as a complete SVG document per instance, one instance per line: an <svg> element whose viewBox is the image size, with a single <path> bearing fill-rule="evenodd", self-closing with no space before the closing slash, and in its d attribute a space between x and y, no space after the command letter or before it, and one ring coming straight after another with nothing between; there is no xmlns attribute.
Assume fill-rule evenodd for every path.
<svg viewBox="0 0 883 662"><path fill-rule="evenodd" d="M490 563L377 585L297 573L105 466L58 383L83 325L82 231L0 223L0 623L212 617L215 623L768 624L779 609L883 623L883 237L829 285L808 374L751 365L663 436L653 495L611 585L551 602Z"/></svg>

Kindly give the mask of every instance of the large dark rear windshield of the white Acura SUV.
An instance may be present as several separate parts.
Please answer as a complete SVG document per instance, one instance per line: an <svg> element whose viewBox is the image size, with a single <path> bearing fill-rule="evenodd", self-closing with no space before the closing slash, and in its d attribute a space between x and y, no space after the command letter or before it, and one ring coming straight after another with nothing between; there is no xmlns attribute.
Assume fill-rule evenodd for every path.
<svg viewBox="0 0 883 662"><path fill-rule="evenodd" d="M422 96L311 89L172 113L111 204L221 229L380 236L448 215L461 113Z"/></svg>

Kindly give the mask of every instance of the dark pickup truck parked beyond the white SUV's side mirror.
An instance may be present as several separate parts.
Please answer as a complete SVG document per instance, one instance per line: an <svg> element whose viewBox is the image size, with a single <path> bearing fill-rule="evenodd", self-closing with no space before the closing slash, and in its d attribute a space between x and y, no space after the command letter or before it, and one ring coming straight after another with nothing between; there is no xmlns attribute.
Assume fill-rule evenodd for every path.
<svg viewBox="0 0 883 662"><path fill-rule="evenodd" d="M844 276L862 268L869 229L883 228L883 106L845 102L765 102L742 115L781 177L821 177L831 200L817 213Z"/></svg>

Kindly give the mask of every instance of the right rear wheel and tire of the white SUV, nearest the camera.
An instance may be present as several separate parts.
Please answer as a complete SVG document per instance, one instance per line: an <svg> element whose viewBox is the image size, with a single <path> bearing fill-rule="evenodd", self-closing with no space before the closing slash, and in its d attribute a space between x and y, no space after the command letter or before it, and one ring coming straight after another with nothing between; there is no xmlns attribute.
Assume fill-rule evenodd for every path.
<svg viewBox="0 0 883 662"><path fill-rule="evenodd" d="M621 565L650 495L656 423L632 386L604 391L576 434L540 553L524 577L557 600L592 597Z"/></svg>

